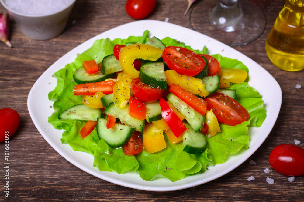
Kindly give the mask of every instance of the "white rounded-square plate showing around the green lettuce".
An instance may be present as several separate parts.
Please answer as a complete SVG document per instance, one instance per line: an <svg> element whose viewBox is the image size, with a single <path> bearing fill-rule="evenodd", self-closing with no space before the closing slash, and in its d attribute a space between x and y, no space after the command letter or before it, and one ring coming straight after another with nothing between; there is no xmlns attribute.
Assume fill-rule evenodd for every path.
<svg viewBox="0 0 304 202"><path fill-rule="evenodd" d="M171 182L167 178L159 178L154 181L144 181L137 172L127 172L125 174L117 174L115 172L102 172L96 167L93 167L94 157L85 152L74 151L68 144L61 144L63 130L56 130L47 122L47 118L53 113L53 102L48 100L48 93L52 91L57 81L52 75L68 63L74 61L78 53L82 53L90 48L94 41L102 38L127 38L128 36L142 35L143 31L148 29L150 36L157 38L165 38L167 36L185 42L186 45L191 45L194 49L202 49L206 45L209 49L209 54L222 54L223 56L235 58L242 61L249 68L250 86L257 89L263 96L267 117L263 125L259 128L250 128L250 147L248 150L240 154L232 155L224 164L219 164L214 167L209 167L209 170L203 174L185 177L185 179ZM105 31L90 40L82 43L74 48L52 66L50 66L36 81L29 93L27 100L28 110L31 118L38 131L44 139L67 161L70 161L75 166L85 172L99 177L103 180L119 184L125 187L130 187L139 190L148 191L173 191L181 190L189 187L194 187L199 184L204 184L211 180L215 180L246 161L264 142L270 133L275 121L278 117L282 102L282 91L278 82L264 68L258 65L242 53L233 48L216 41L206 35L196 31L174 25L168 22L155 20L135 21L119 27Z"/></svg>

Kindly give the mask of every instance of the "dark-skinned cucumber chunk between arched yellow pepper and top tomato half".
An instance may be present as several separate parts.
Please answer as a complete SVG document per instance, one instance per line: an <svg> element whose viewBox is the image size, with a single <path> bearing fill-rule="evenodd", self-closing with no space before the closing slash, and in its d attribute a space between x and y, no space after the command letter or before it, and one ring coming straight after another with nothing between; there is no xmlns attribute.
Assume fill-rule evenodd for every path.
<svg viewBox="0 0 304 202"><path fill-rule="evenodd" d="M142 65L138 77L140 81L153 88L167 89L167 80L162 62L151 62Z"/></svg>

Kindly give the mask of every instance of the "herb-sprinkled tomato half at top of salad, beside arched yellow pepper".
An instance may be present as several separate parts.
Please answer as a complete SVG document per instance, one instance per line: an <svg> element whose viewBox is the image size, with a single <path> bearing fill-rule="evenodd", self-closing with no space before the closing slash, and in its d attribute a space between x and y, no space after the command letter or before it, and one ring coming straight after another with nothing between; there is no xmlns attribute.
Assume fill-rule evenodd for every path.
<svg viewBox="0 0 304 202"><path fill-rule="evenodd" d="M197 75L205 66L205 61L198 54L177 46L167 46L163 52L163 60L169 69L186 76Z"/></svg>

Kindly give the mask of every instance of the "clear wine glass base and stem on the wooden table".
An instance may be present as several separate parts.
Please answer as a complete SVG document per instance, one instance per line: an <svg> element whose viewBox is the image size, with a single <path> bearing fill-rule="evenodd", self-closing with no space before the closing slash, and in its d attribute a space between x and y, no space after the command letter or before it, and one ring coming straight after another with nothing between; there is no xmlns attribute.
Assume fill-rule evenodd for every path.
<svg viewBox="0 0 304 202"><path fill-rule="evenodd" d="M265 18L248 0L202 0L190 12L193 30L230 46L246 45L263 33Z"/></svg>

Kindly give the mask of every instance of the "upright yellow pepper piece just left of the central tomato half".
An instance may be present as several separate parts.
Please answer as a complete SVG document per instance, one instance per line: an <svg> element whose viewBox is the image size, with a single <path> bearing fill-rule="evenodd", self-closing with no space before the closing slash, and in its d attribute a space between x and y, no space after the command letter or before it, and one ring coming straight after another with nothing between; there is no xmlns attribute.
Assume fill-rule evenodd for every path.
<svg viewBox="0 0 304 202"><path fill-rule="evenodd" d="M127 74L114 84L113 102L119 109L125 108L126 104L129 102L131 82L132 77Z"/></svg>

